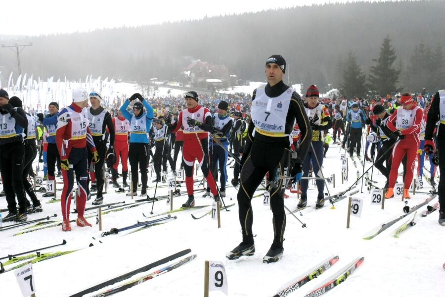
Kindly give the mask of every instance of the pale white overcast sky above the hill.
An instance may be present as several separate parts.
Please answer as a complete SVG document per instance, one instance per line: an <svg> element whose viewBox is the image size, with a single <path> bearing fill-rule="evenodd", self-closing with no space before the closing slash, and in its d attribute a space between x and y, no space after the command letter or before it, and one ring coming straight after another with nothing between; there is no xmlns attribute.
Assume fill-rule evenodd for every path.
<svg viewBox="0 0 445 297"><path fill-rule="evenodd" d="M0 34L85 32L326 2L329 0L4 0Z"/></svg>

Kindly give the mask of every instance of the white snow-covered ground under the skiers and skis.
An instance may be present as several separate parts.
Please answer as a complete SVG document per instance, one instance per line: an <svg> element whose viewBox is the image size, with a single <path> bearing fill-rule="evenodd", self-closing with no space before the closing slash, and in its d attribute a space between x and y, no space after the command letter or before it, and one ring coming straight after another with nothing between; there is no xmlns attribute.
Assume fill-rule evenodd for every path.
<svg viewBox="0 0 445 297"><path fill-rule="evenodd" d="M342 152L343 150L340 150L338 145L333 145L324 159L324 175L329 176L335 173L336 176L335 189L333 185L329 185L331 195L351 185L356 180L357 170L360 175L362 172L360 164L357 164L355 168L349 160L350 181L342 184L339 157ZM366 169L369 166L370 163L366 162ZM227 171L228 181L230 181L233 170L228 168ZM42 175L42 172L39 175ZM199 172L198 176L201 175ZM154 179L154 175L151 179ZM150 197L154 194L155 186L151 179L149 179L150 189L148 190ZM383 176L379 175L377 170L373 172L373 179L379 181L380 186L384 185ZM426 182L424 184L424 188L419 191L428 192L430 186ZM358 186L360 185L361 182L358 183ZM60 187L61 184L57 186ZM202 186L198 187L196 183L195 189L198 188ZM185 191L185 184L182 184L180 189ZM104 195L104 203L131 201L131 198L115 193L114 190L108 187L107 194ZM325 192L327 192L326 189ZM167 188L163 187L158 188L156 195L162 196L167 193ZM225 203L236 203L236 189L228 187L226 193ZM257 192L257 194L261 193L261 191ZM265 264L262 261L273 239L272 213L267 206L263 205L263 198L252 200L256 252L251 257L241 257L232 261L225 258L225 253L241 241L236 205L230 207L228 212L221 211L222 228L220 229L217 228L217 222L210 216L199 220L191 217L191 213L199 215L209 211L210 206L208 206L203 209L174 213L173 215L177 216L175 221L133 234L127 235L129 232L122 232L103 238L100 236L103 231L109 231L111 228L150 220L144 218L142 213L150 215L151 203L103 215L103 231L99 231L98 225L94 224L92 228L80 228L72 224L71 232L62 232L61 227L57 226L19 236L13 236L13 234L23 227L2 231L0 232L0 257L59 244L64 239L67 241L65 246L44 250L43 253L80 249L33 264L38 297L70 296L186 248L191 248L192 253L197 254L197 258L172 272L139 284L117 296L202 296L205 260L217 260L225 264L228 296L272 296L288 281L307 272L312 266L330 255L339 255L340 260L319 278L312 280L290 296L304 296L312 292L358 256L364 256L363 264L344 283L328 292L329 296L444 296L445 272L442 263L445 262L443 248L445 229L437 222L438 211L427 217L421 217L420 212L426 207L421 208L415 219L417 224L414 227L408 227L408 230L401 233L399 239L394 238L393 233L404 220L374 239L366 241L362 238L371 230L403 214L404 202L401 202L400 198L387 199L385 209L382 210L379 206L370 205L370 196L364 185L363 193L359 192L353 196L364 200L361 218L351 217L351 228L346 229L348 199L336 203L335 209L332 209L326 201L324 208L315 211L316 195L316 187L310 182L308 205L311 206L302 210L302 215L296 213L307 224L307 228L302 228L293 216L287 215L284 255L277 263ZM28 220L54 213L57 213L57 219L60 219L60 204L46 203L50 198L43 198L41 194L38 196L42 200L44 212L29 215ZM413 207L423 202L425 198L427 198L426 194L416 192L408 201L408 205ZM212 199L202 198L202 192L196 193L195 199L196 205L211 205L212 203ZM180 207L185 200L185 195L175 197L174 209ZM435 202L437 198L430 204ZM295 209L297 203L296 194L290 194L290 198L285 199L285 205L289 209ZM91 200L87 202L87 207L89 206L91 206ZM5 199L0 198L0 208L5 207ZM74 208L74 201L71 208ZM154 215L168 210L170 206L166 204L166 200L155 202ZM87 211L87 213L94 215L96 212ZM3 213L3 216L5 214ZM72 219L75 217L75 214L71 214ZM94 223L94 220L94 217L90 218L89 222ZM9 224L5 223L3 226ZM94 246L89 247L90 243ZM161 265L163 266L166 265ZM151 271L155 270L157 269L154 268ZM146 274L148 272L138 276ZM0 275L0 288L1 296L21 296L13 272ZM103 290L99 292L101 291ZM220 292L211 292L210 296L224 295Z"/></svg>

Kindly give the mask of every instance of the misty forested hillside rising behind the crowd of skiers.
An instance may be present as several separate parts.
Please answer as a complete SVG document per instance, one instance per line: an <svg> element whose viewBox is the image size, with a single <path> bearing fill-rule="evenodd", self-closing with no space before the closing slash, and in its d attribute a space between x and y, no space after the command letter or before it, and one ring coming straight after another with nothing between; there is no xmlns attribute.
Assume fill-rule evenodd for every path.
<svg viewBox="0 0 445 297"><path fill-rule="evenodd" d="M391 62L390 75L397 77L388 85L394 91L436 91L445 87L444 16L445 2L438 0L333 3L89 33L3 37L1 44L32 42L21 53L22 73L44 79L92 74L172 80L199 59L223 64L240 79L264 81L266 58L280 53L287 61L286 83L316 84L322 92L345 86L353 62L367 90L387 92L379 73ZM379 59L382 51L388 61ZM11 71L17 73L16 56L8 49L0 49L0 71L3 85Z"/></svg>

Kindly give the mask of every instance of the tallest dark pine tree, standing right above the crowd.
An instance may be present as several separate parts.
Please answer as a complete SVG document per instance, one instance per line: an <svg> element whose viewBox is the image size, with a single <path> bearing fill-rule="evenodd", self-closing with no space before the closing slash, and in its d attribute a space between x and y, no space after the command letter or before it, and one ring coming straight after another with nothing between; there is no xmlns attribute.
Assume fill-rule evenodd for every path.
<svg viewBox="0 0 445 297"><path fill-rule="evenodd" d="M369 69L369 85L376 94L387 95L401 90L398 88L400 71L394 65L396 59L396 50L392 48L391 39L387 36L380 47L379 58L372 59L376 65Z"/></svg>

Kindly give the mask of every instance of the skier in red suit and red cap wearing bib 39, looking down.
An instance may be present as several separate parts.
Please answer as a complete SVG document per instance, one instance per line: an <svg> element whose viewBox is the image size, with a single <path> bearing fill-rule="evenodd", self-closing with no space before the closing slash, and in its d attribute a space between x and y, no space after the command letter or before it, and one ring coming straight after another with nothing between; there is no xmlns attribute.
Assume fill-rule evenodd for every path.
<svg viewBox="0 0 445 297"><path fill-rule="evenodd" d="M417 149L420 145L419 133L423 118L423 110L416 104L410 94L404 93L400 99L403 108L398 108L387 121L387 127L399 138L393 148L393 163L391 165L388 192L385 198L394 197L394 186L401 160L406 155L406 174L404 179L403 198L409 199L409 187L411 186L414 162Z"/></svg>

